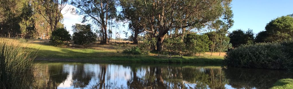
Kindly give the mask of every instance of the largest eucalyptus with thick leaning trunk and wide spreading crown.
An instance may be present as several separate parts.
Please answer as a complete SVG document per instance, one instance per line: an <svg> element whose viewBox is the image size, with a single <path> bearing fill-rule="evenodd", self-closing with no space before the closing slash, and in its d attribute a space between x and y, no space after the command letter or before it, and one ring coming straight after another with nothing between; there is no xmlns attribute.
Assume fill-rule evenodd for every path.
<svg viewBox="0 0 293 89"><path fill-rule="evenodd" d="M156 36L157 50L162 50L165 35L171 29L197 30L211 26L219 18L232 18L231 0L136 0L146 32ZM182 31L185 32L185 31Z"/></svg>

